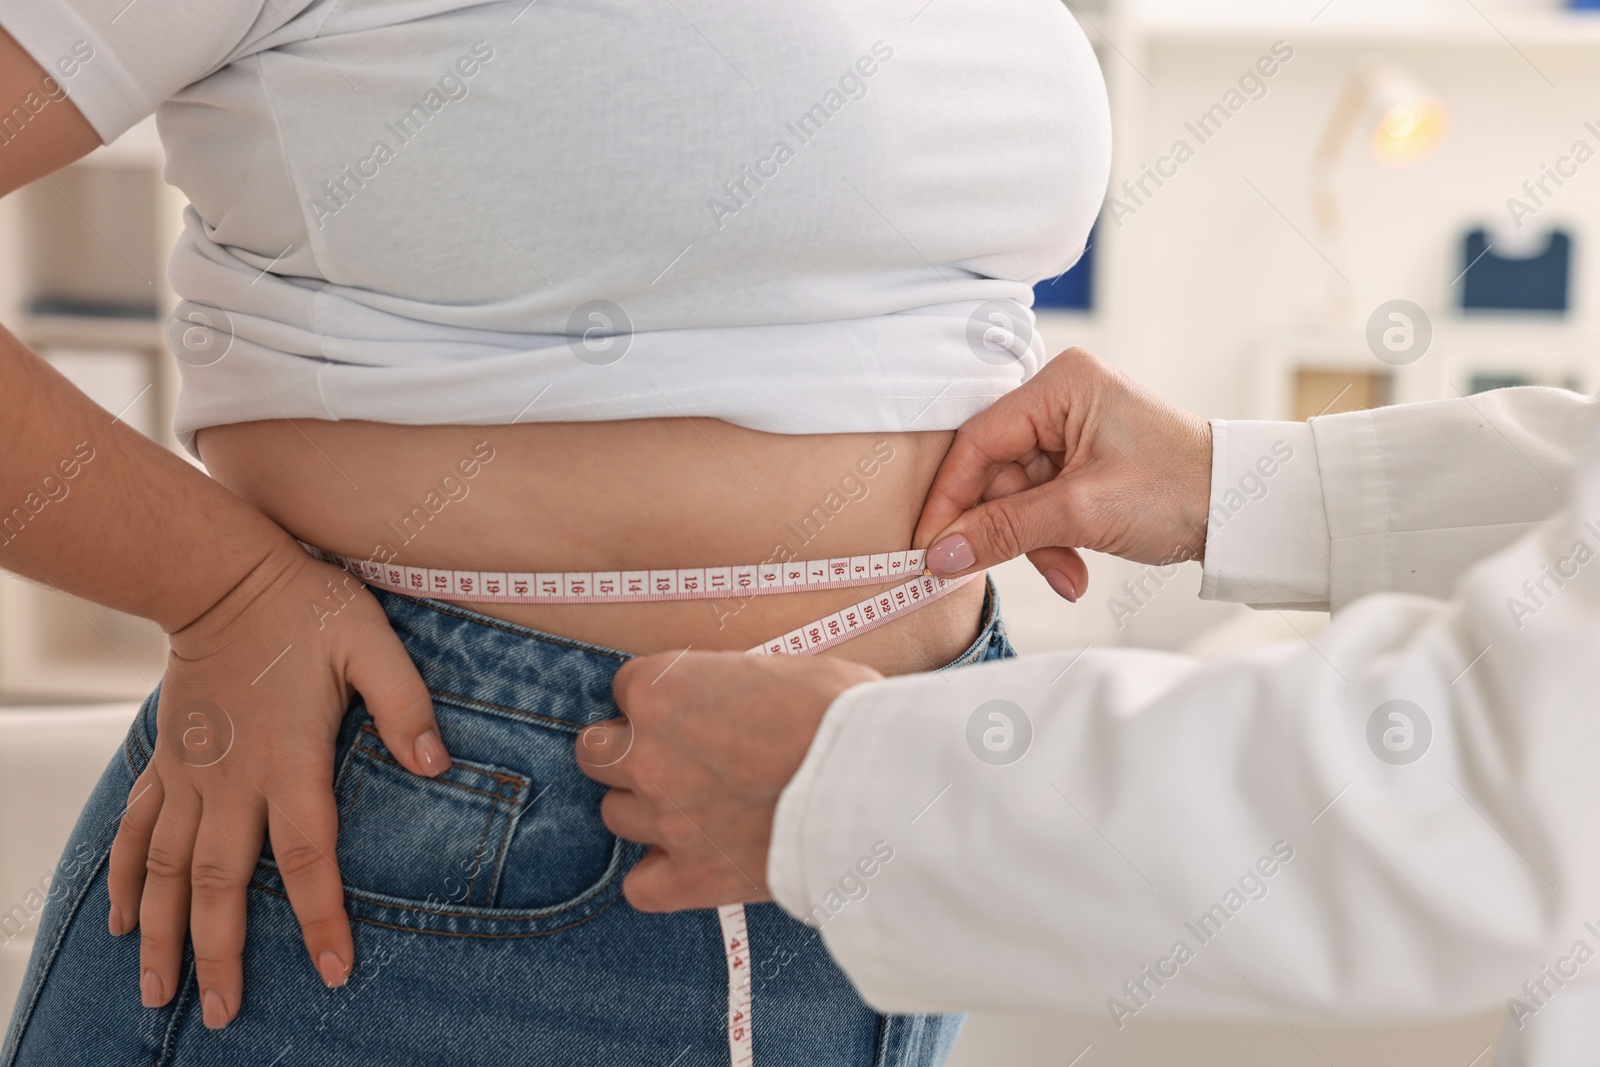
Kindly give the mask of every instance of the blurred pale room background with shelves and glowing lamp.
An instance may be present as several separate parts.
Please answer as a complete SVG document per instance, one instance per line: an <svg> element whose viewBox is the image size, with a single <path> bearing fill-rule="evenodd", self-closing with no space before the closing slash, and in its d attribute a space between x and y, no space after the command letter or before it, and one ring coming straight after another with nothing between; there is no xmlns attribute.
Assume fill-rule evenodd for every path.
<svg viewBox="0 0 1600 1067"><path fill-rule="evenodd" d="M920 0L918 0L920 2ZM1210 418L1304 419L1510 384L1594 392L1600 13L1558 0L1074 0L1115 160L1085 259L1037 288L1051 352L1090 347ZM181 195L154 123L0 200L0 322L173 445L165 282ZM1024 651L1214 656L1315 640L1314 613L1197 600L1090 558L1058 600L997 573ZM1139 585L1125 585L1139 582ZM150 624L0 576L0 1005L82 798L160 678ZM1270 1013L1266 1013L1270 1017ZM974 1016L955 1064L1494 1061L1502 1013L1421 1027Z"/></svg>

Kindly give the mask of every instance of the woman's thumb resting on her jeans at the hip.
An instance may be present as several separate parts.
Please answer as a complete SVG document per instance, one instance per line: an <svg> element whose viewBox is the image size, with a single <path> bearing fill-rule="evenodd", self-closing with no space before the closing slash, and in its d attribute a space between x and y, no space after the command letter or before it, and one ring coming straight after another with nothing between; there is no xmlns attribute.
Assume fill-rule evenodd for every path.
<svg viewBox="0 0 1600 1067"><path fill-rule="evenodd" d="M413 774L434 777L450 769L450 753L434 718L434 699L416 664L381 609L378 619L365 625L366 632L350 649L344 673L366 702L378 736Z"/></svg>

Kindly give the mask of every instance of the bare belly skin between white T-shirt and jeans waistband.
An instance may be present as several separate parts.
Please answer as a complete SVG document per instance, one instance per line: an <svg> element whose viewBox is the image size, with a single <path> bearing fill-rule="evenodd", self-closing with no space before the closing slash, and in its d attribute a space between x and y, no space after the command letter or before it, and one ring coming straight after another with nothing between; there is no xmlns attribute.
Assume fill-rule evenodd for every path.
<svg viewBox="0 0 1600 1067"><path fill-rule="evenodd" d="M392 426L264 421L200 432L206 469L309 544L411 566L624 571L890 552L950 432L776 435L715 419ZM920 547L920 545L918 545ZM747 600L491 605L499 619L629 653L742 651L874 587ZM976 637L982 584L824 654L885 673Z"/></svg>

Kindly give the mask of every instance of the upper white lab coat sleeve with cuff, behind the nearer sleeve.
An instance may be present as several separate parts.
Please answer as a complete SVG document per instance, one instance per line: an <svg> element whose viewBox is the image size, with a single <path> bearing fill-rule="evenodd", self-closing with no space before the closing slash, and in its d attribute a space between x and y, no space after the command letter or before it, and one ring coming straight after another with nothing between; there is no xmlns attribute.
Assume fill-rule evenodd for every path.
<svg viewBox="0 0 1600 1067"><path fill-rule="evenodd" d="M1200 595L1301 609L1445 597L1560 506L1594 408L1528 387L1309 424L1213 422Z"/></svg>

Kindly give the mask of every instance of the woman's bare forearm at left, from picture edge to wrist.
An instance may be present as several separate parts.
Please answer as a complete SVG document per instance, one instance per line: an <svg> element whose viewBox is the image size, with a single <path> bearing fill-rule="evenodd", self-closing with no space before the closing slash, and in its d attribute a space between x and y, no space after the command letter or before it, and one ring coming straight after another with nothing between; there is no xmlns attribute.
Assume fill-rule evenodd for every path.
<svg viewBox="0 0 1600 1067"><path fill-rule="evenodd" d="M8 571L174 632L294 547L267 517L114 421L3 328L0 403Z"/></svg>

